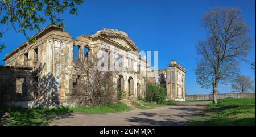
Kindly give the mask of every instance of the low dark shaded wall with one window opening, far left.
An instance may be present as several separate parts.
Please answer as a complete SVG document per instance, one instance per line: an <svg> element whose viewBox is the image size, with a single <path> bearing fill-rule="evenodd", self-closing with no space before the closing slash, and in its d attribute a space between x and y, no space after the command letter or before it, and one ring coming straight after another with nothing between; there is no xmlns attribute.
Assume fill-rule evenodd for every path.
<svg viewBox="0 0 256 137"><path fill-rule="evenodd" d="M29 67L0 66L0 105L31 101L34 79Z"/></svg>

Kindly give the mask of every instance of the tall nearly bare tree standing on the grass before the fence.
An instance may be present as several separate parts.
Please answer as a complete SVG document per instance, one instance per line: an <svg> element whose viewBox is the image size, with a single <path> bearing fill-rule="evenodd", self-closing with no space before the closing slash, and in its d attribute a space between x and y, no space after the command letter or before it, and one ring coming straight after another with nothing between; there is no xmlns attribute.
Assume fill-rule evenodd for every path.
<svg viewBox="0 0 256 137"><path fill-rule="evenodd" d="M218 84L234 80L240 71L239 61L247 61L249 28L236 8L216 7L203 15L201 25L208 37L196 45L196 80L202 88L212 88L213 104L217 104Z"/></svg>

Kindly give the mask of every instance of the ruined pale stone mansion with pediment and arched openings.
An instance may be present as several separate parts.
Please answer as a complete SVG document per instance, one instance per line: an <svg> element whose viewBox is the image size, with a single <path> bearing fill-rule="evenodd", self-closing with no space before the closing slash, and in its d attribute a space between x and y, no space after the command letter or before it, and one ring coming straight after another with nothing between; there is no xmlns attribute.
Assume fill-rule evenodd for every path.
<svg viewBox="0 0 256 137"><path fill-rule="evenodd" d="M114 49L114 59L109 59L109 65L115 65L119 59L118 66L122 66L122 71L113 79L118 87L116 92L125 91L129 99L143 97L147 82L164 78L167 100L185 100L185 69L172 60L165 70L151 70L138 46L123 31L102 29L73 40L63 28L48 25L33 37L35 43L24 42L3 58L5 66L0 66L2 105L26 108L67 105L77 80L74 60L89 58L88 54L101 51L110 53L110 49Z"/></svg>

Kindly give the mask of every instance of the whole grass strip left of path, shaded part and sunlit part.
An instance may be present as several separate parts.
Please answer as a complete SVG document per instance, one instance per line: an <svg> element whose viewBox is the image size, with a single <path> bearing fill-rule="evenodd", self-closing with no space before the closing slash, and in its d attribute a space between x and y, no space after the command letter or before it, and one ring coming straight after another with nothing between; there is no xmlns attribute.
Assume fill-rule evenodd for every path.
<svg viewBox="0 0 256 137"><path fill-rule="evenodd" d="M59 116L68 116L64 114L72 112L84 112L87 114L113 113L130 110L130 107L116 103L108 106L92 106L92 107L62 107L62 108L20 108L20 107L0 107L0 111L9 112L10 117L1 119L0 125L49 125L52 119Z"/></svg>

